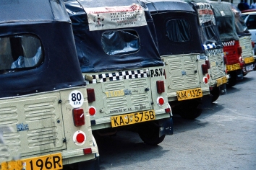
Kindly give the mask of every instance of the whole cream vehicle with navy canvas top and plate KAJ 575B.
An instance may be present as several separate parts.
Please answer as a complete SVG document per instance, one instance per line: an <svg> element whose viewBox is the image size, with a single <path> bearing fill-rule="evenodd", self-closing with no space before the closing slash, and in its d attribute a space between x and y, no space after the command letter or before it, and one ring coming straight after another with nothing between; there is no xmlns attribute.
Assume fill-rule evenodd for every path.
<svg viewBox="0 0 256 170"><path fill-rule="evenodd" d="M173 133L153 21L135 0L64 1L88 86L93 133L132 130L150 145Z"/></svg>

